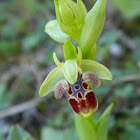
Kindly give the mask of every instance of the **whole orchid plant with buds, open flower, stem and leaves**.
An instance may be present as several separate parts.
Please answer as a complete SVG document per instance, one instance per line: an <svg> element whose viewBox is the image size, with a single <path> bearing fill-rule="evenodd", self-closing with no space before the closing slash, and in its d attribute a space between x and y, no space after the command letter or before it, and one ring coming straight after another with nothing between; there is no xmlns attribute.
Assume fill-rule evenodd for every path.
<svg viewBox="0 0 140 140"><path fill-rule="evenodd" d="M82 0L54 0L56 20L48 22L45 32L55 41L64 43L65 62L53 53L57 67L40 87L40 96L54 91L57 99L67 93L69 103L77 114L75 126L80 140L106 140L107 126L113 105L103 113L98 123L92 114L98 109L94 86L102 80L111 80L110 71L96 62L96 41L105 23L106 0L97 0L87 12ZM77 41L78 47L73 45ZM84 127L84 128L83 128ZM102 135L102 136L101 136Z"/></svg>

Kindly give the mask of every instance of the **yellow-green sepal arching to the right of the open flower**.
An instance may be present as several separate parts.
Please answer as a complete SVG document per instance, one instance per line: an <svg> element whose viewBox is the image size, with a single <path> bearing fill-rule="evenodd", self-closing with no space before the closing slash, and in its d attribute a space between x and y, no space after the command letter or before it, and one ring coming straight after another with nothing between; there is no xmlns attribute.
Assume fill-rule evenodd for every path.
<svg viewBox="0 0 140 140"><path fill-rule="evenodd" d="M80 64L82 72L90 71L98 76L99 79L112 80L111 72L102 64L93 60L82 60Z"/></svg>

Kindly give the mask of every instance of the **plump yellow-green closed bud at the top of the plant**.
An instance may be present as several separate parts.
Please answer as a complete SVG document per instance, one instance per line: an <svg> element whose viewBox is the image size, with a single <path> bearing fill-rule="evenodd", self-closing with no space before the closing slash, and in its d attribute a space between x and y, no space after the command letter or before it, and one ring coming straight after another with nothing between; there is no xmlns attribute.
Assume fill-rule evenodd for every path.
<svg viewBox="0 0 140 140"><path fill-rule="evenodd" d="M81 0L77 3L72 0L54 0L56 18L61 30L80 41L81 30L87 14Z"/></svg>

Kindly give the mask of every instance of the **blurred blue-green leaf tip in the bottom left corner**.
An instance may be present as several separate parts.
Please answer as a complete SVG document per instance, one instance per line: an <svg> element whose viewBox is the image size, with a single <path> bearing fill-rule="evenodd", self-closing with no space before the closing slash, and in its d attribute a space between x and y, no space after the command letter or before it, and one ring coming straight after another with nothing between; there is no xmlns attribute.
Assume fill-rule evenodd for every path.
<svg viewBox="0 0 140 140"><path fill-rule="evenodd" d="M16 125L11 128L7 140L24 140L25 137L33 140L33 138L28 132Z"/></svg>

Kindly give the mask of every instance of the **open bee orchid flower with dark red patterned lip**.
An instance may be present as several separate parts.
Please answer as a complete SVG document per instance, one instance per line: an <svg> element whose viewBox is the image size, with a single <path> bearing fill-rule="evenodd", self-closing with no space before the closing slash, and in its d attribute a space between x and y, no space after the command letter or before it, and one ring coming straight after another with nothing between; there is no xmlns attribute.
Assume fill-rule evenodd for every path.
<svg viewBox="0 0 140 140"><path fill-rule="evenodd" d="M111 80L110 71L102 64L82 59L81 49L67 41L63 46L65 62L60 62L56 54L53 59L57 65L40 87L40 96L54 91L57 99L67 93L72 109L79 115L89 117L98 108L93 86L99 87L100 80Z"/></svg>

